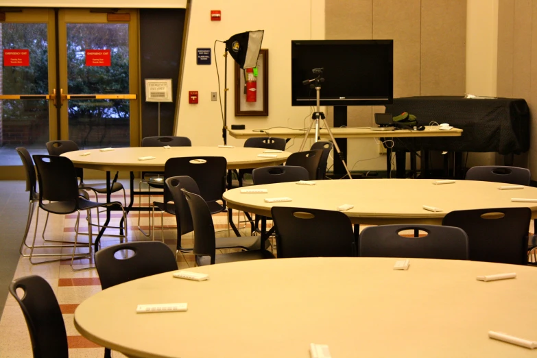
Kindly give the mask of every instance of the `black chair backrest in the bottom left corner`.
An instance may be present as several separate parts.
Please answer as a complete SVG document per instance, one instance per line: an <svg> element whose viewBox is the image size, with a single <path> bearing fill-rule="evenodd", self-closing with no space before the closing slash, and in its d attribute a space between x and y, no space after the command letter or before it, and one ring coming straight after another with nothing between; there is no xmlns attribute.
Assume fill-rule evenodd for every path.
<svg viewBox="0 0 537 358"><path fill-rule="evenodd" d="M24 291L21 297L17 289ZM17 278L10 284L10 293L23 311L34 358L69 357L62 311L45 278L35 275Z"/></svg>

